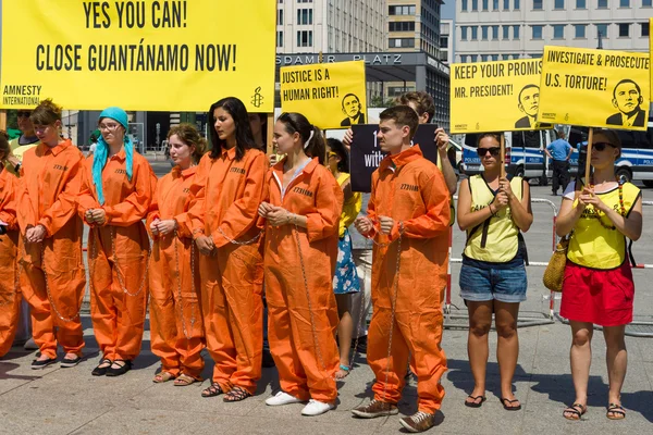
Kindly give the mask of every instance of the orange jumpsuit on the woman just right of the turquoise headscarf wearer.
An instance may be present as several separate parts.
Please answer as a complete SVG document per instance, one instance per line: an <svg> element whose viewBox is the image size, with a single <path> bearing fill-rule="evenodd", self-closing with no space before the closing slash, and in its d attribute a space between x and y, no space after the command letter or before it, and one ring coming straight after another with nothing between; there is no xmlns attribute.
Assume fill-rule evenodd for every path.
<svg viewBox="0 0 653 435"><path fill-rule="evenodd" d="M198 294L199 251L194 247L188 219L190 186L197 166L175 166L157 184L147 228L159 219L174 219L177 234L155 236L149 273L150 344L162 370L200 378L204 369L204 330ZM192 265L195 270L190 270Z"/></svg>

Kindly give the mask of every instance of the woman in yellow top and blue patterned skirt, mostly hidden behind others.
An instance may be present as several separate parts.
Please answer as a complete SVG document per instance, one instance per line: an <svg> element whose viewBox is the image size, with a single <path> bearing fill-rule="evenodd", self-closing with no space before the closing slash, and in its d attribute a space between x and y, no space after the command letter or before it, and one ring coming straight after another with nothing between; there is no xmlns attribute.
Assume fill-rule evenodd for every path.
<svg viewBox="0 0 653 435"><path fill-rule="evenodd" d="M333 291L337 303L337 347L340 350L340 369L335 372L336 378L343 378L349 374L349 350L352 348L352 335L354 333L354 321L352 319L352 295L360 291L360 282L356 273L356 264L352 256L352 238L347 227L356 220L362 198L360 192L352 191L349 179L349 159L343 142L337 139L326 141L326 165L337 184L345 194L343 213L340 221L340 233L337 243L337 264L333 276ZM359 320L365 322L365 319Z"/></svg>

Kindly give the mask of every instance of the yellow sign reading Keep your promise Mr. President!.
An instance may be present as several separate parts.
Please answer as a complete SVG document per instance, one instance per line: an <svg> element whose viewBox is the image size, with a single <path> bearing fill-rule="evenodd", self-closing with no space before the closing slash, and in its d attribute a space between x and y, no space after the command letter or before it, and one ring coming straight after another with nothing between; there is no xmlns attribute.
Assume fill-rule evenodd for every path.
<svg viewBox="0 0 653 435"><path fill-rule="evenodd" d="M539 59L452 65L452 133L551 128L535 121Z"/></svg>

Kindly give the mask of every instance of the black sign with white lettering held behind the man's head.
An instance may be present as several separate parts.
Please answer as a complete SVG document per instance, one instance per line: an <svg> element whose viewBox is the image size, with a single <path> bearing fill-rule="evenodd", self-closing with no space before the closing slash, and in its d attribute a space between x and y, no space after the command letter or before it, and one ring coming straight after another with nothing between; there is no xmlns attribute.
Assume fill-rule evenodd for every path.
<svg viewBox="0 0 653 435"><path fill-rule="evenodd" d="M433 163L438 162L438 147L435 146L435 124L421 124L412 144L418 144L424 158ZM381 160L386 156L381 151L377 139L378 124L354 125L354 141L349 153L349 174L352 175L352 190L371 191L372 173L377 171Z"/></svg>

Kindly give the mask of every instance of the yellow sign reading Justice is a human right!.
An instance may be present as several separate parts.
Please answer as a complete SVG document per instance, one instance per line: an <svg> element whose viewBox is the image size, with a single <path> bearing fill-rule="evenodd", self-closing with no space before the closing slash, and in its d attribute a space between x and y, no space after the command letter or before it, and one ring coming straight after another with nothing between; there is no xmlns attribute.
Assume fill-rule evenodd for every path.
<svg viewBox="0 0 653 435"><path fill-rule="evenodd" d="M299 112L320 128L366 123L364 61L286 66L280 80L282 112Z"/></svg>

